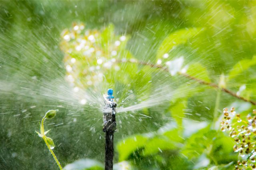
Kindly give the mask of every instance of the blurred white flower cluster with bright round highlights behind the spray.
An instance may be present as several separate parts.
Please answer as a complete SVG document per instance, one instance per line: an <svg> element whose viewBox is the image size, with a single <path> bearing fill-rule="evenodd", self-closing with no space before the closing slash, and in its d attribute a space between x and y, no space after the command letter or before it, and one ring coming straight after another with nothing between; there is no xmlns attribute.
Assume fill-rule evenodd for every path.
<svg viewBox="0 0 256 170"><path fill-rule="evenodd" d="M108 70L120 70L116 60L122 57L127 38L115 35L114 31L106 33L106 29L85 30L83 24L74 24L72 29L62 32L60 45L65 53L66 80L74 92L99 84Z"/></svg>

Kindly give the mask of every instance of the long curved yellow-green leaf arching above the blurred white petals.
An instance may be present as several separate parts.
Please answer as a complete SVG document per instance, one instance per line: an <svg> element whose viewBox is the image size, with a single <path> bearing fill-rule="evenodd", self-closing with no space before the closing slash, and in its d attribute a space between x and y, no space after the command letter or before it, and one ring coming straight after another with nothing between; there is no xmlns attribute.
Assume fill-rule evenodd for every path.
<svg viewBox="0 0 256 170"><path fill-rule="evenodd" d="M174 47L184 44L188 41L188 39L193 38L194 36L198 35L204 28L184 28L179 29L171 33L168 37L164 39L161 43L160 47L158 48L158 53L156 58L160 59L163 57L165 53L169 53Z"/></svg>

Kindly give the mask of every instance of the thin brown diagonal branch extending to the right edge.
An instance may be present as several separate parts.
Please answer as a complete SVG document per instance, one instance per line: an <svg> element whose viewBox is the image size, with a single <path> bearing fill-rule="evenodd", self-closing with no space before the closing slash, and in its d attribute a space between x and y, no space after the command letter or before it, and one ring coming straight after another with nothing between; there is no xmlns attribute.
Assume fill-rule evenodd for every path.
<svg viewBox="0 0 256 170"><path fill-rule="evenodd" d="M146 62L144 62L144 61L118 60L117 62L118 62L118 63L138 63L138 64L141 64L141 65L150 66L150 67L152 67L152 68L159 68L159 69L161 69L161 70L164 70L164 71L169 72L168 68L166 68L166 67L164 67L164 66L156 65L156 64L152 64L152 63L146 63ZM251 104L253 104L253 105L256 106L256 102L254 102L254 101L252 101L252 100L248 100L248 99L243 98L243 97L241 97L241 96L238 96L238 95L236 95L235 92L232 92L232 91L230 91L230 90L228 90L228 89L226 89L226 88L221 88L221 87L219 87L219 86L218 86L217 84L215 84L215 83L206 82L206 81L204 81L204 80L201 80L201 79L198 79L198 78L196 78L196 77L190 76L189 74L186 74L186 73L179 73L179 74L180 74L181 76L184 76L184 77L190 79L190 80L194 80L194 81L196 81L196 82L198 82L198 83L200 83L200 84L204 84L204 85L206 85L206 86L210 86L210 87L213 87L213 88L220 89L220 90L222 90L223 92L226 92L226 93L230 94L231 96L234 96L235 98L238 98L238 99L243 100L243 101L245 101L245 102L250 102Z"/></svg>

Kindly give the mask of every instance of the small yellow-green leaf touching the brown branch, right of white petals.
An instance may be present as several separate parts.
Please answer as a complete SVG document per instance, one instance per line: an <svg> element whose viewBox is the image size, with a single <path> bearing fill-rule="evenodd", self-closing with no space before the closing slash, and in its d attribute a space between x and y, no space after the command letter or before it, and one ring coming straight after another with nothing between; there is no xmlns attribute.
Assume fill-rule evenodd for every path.
<svg viewBox="0 0 256 170"><path fill-rule="evenodd" d="M190 64L186 73L194 78L210 82L206 68L200 63Z"/></svg>

